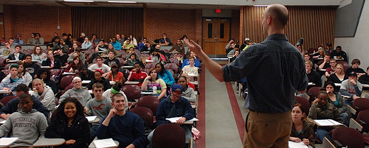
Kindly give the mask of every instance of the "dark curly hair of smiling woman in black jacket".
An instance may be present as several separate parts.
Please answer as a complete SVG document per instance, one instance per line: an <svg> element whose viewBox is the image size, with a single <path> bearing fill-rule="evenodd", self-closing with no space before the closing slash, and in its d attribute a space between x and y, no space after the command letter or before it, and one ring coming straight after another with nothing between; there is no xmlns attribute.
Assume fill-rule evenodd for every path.
<svg viewBox="0 0 369 148"><path fill-rule="evenodd" d="M76 105L77 111L75 116L84 116L86 114L85 108L76 98L68 97L60 103L58 109L56 110L57 117L67 118L67 115L64 113L64 107L67 103L74 103Z"/></svg>

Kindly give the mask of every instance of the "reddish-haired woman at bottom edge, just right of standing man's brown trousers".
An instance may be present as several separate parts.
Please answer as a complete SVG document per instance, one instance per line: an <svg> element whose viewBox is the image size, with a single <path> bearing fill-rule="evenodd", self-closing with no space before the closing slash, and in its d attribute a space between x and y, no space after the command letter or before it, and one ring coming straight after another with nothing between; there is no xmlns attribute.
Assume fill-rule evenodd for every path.
<svg viewBox="0 0 369 148"><path fill-rule="evenodd" d="M301 104L295 104L291 111L292 114L292 130L289 140L299 143L302 142L309 148L315 148L314 140L314 121L306 117Z"/></svg>

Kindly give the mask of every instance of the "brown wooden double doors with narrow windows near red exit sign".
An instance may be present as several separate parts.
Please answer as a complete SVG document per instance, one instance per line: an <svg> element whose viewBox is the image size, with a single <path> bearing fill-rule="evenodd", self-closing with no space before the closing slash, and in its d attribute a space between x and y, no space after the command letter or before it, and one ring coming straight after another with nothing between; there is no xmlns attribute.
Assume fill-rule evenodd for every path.
<svg viewBox="0 0 369 148"><path fill-rule="evenodd" d="M226 45L231 33L231 20L204 18L202 20L202 49L208 55L226 55Z"/></svg>

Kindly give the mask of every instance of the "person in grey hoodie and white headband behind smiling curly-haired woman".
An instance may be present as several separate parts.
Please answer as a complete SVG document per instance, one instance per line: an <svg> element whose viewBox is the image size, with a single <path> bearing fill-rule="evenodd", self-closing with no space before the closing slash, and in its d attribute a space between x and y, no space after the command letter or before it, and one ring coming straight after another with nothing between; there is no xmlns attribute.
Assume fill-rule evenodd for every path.
<svg viewBox="0 0 369 148"><path fill-rule="evenodd" d="M91 99L91 94L86 87L82 86L82 80L80 77L73 77L72 83L74 87L67 90L63 95L60 96L59 104L61 104L64 99L70 97L77 99L82 106L85 106L86 103Z"/></svg>

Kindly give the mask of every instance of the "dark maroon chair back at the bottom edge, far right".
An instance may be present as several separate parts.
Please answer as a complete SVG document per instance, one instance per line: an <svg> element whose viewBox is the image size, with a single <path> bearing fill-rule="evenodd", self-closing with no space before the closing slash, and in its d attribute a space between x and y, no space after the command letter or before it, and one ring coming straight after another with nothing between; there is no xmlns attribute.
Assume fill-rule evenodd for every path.
<svg viewBox="0 0 369 148"><path fill-rule="evenodd" d="M356 129L349 127L338 127L332 133L332 140L337 140L343 147L364 148L363 135Z"/></svg>

